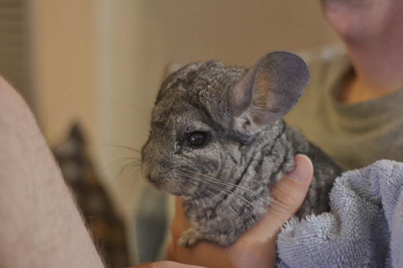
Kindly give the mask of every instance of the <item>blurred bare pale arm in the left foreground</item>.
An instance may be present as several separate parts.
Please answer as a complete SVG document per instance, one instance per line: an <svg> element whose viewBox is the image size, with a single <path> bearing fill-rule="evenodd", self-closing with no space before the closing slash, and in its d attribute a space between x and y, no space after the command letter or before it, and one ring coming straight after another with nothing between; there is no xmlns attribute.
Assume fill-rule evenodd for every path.
<svg viewBox="0 0 403 268"><path fill-rule="evenodd" d="M0 266L103 267L34 117L2 77Z"/></svg>

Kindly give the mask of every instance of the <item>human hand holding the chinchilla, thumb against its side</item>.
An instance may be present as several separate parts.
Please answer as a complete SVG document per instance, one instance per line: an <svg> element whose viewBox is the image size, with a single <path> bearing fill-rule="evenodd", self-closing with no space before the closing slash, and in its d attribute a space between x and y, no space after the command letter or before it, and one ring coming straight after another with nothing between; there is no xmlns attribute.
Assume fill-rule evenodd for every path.
<svg viewBox="0 0 403 268"><path fill-rule="evenodd" d="M294 159L296 168L271 190L275 201L268 208L266 216L230 246L220 247L207 241L199 241L189 248L178 246L180 234L190 225L183 210L183 200L177 198L171 227L173 241L168 248L168 258L210 268L274 267L277 234L302 205L313 176L313 165L307 156L299 154Z"/></svg>

